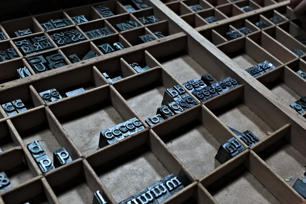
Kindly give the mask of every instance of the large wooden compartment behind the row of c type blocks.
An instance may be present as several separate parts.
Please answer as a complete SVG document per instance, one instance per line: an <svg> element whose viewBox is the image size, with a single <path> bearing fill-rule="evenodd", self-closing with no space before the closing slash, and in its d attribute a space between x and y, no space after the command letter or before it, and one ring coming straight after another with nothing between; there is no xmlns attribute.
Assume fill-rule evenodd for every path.
<svg viewBox="0 0 306 204"><path fill-rule="evenodd" d="M83 155L99 149L101 131L135 117L109 86L54 104L50 109Z"/></svg>

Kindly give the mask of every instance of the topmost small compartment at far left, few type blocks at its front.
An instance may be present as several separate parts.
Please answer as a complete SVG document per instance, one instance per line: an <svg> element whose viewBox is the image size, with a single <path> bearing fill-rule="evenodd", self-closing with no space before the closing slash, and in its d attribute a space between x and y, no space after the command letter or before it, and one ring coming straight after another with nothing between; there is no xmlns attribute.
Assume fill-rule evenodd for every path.
<svg viewBox="0 0 306 204"><path fill-rule="evenodd" d="M35 24L32 17L6 21L1 25L10 38L26 36L31 33L43 31L37 24ZM17 32L17 35L15 34L15 32Z"/></svg>

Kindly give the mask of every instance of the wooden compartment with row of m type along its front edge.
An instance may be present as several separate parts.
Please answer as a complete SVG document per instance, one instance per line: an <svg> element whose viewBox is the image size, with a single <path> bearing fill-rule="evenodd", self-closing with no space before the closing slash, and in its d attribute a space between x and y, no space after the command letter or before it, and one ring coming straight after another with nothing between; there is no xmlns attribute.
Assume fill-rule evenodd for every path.
<svg viewBox="0 0 306 204"><path fill-rule="evenodd" d="M171 153L153 133L144 131L130 137L130 140L116 144L117 147L120 146L120 153L114 151L113 146L114 148L101 150L87 159L116 203L149 187L170 173L186 177L179 162L170 156ZM162 155L168 157L164 158ZM191 183L188 178L186 180L185 186ZM122 188L126 190L121 191Z"/></svg>

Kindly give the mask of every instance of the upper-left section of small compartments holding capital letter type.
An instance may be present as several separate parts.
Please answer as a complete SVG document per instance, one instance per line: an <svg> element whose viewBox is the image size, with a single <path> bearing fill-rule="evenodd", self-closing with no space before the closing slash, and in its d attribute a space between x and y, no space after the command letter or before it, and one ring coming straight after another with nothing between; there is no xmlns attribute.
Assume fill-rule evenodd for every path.
<svg viewBox="0 0 306 204"><path fill-rule="evenodd" d="M156 9L129 13L124 5L106 1L2 22L0 83L175 33Z"/></svg>

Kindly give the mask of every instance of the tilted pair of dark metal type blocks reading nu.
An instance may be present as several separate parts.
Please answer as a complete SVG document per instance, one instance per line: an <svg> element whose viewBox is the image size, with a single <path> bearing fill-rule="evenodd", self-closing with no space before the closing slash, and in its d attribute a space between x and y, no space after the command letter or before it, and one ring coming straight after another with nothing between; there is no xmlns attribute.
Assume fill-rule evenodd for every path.
<svg viewBox="0 0 306 204"><path fill-rule="evenodd" d="M215 159L217 159L220 164L223 164L234 156L237 156L243 150L245 150L245 147L243 147L237 139L231 138L225 143L221 144Z"/></svg>

